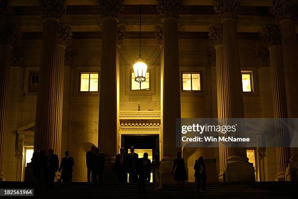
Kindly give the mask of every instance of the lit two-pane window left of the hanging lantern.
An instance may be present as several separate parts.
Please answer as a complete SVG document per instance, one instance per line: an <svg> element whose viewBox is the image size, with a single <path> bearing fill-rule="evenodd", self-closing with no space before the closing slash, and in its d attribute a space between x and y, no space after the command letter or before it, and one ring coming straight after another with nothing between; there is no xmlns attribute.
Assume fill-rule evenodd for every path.
<svg viewBox="0 0 298 199"><path fill-rule="evenodd" d="M98 92L98 72L80 73L80 91Z"/></svg>

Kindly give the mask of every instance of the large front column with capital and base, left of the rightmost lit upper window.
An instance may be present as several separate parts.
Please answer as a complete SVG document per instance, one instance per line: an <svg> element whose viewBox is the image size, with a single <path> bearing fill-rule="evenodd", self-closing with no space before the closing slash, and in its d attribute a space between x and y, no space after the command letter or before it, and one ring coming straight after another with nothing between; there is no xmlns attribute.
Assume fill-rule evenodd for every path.
<svg viewBox="0 0 298 199"><path fill-rule="evenodd" d="M244 118L242 78L237 39L237 15L241 0L214 0L215 13L222 19L224 49L224 80L226 100L224 119ZM254 181L253 164L248 162L246 148L228 147L226 181Z"/></svg>

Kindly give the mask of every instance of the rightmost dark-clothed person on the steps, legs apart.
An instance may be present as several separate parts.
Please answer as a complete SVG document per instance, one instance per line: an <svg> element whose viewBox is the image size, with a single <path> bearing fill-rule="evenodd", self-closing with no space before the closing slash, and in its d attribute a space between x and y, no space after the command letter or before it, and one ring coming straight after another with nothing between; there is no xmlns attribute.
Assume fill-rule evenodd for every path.
<svg viewBox="0 0 298 199"><path fill-rule="evenodd" d="M193 169L195 170L194 177L196 178L196 181L197 181L197 193L200 193L201 179L203 182L203 191L205 191L207 176L206 176L206 166L204 164L204 158L202 156L196 160L196 163L195 163Z"/></svg>

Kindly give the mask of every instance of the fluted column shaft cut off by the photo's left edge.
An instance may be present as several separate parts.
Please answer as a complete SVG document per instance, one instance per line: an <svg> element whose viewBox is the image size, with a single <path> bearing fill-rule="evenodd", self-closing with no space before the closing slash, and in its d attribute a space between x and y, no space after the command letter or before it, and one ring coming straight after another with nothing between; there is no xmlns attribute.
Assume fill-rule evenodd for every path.
<svg viewBox="0 0 298 199"><path fill-rule="evenodd" d="M12 46L0 45L0 173L3 171L4 140L6 135L6 107ZM1 175L1 174L0 174Z"/></svg>

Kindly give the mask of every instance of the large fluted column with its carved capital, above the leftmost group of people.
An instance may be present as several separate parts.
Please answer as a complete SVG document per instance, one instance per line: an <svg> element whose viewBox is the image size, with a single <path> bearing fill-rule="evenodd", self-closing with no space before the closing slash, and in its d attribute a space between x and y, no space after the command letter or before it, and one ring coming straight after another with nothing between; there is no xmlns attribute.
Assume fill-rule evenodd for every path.
<svg viewBox="0 0 298 199"><path fill-rule="evenodd" d="M57 92L57 31L58 19L65 12L65 0L39 0L43 17L42 46L39 66L39 88L37 95L37 111L34 145L41 145L47 150L54 149L58 154L58 140L56 134L57 108L60 104L56 100Z"/></svg>

